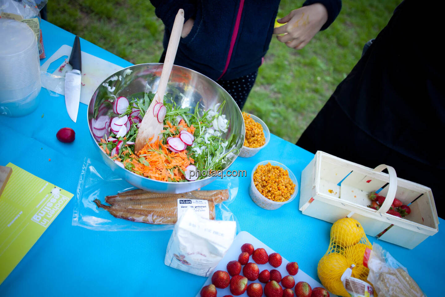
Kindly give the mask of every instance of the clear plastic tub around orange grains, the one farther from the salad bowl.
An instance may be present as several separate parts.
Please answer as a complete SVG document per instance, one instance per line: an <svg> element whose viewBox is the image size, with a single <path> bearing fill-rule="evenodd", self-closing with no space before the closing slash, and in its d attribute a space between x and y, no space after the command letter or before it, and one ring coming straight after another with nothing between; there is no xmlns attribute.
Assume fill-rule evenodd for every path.
<svg viewBox="0 0 445 297"><path fill-rule="evenodd" d="M271 163L272 166L279 166L279 167L283 168L284 170L287 170L287 172L289 174L289 178L295 184L294 193L291 195L291 197L287 201L276 202L276 201L273 201L271 199L267 199L255 187L255 183L253 181L253 174L255 173L255 171L256 171L256 169L258 168L259 165L266 165L267 163ZM298 193L297 179L295 178L295 175L292 173L292 171L289 168L287 168L286 166L284 166L282 163L279 163L279 162L276 162L276 161L263 161L263 162L260 162L260 163L256 164L255 168L252 170L251 185L249 187L249 195L251 196L251 199L253 200L253 202L255 202L255 204L258 205L259 207L262 207L262 208L267 209L267 210L277 209L279 207L282 207L284 204L289 203L293 199L295 199L295 196L297 195L297 193Z"/></svg>

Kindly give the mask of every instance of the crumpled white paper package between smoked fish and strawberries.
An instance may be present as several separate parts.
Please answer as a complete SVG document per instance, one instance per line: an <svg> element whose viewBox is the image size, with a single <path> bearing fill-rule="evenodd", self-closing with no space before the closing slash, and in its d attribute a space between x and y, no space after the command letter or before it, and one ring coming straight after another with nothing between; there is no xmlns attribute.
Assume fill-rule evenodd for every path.
<svg viewBox="0 0 445 297"><path fill-rule="evenodd" d="M231 246L235 233L235 221L208 220L187 208L174 226L164 263L208 277Z"/></svg>

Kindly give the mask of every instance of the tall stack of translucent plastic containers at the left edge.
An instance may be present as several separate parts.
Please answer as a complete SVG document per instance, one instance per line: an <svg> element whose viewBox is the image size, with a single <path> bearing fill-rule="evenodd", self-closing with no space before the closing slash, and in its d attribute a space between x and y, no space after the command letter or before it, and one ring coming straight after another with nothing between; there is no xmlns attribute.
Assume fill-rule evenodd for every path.
<svg viewBox="0 0 445 297"><path fill-rule="evenodd" d="M41 87L36 35L25 23L1 18L0 40L0 114L30 114Z"/></svg>

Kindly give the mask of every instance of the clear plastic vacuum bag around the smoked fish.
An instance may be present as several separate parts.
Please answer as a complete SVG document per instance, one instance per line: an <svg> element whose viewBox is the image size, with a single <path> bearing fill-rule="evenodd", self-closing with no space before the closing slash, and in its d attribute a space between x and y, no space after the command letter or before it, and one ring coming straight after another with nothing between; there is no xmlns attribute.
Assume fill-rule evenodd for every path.
<svg viewBox="0 0 445 297"><path fill-rule="evenodd" d="M215 191L210 192L204 190ZM132 192L122 193L125 191ZM121 179L121 177L117 176L105 164L99 161L85 158L75 195L76 197L72 224L74 226L81 226L92 230L102 231L162 231L173 229L174 221L168 220L169 216L166 216L166 218L164 218L162 214L159 216L159 207L157 207L156 212L153 211L152 213L150 213L150 216L145 217L145 220L150 220L151 222L158 224L146 224L140 221L138 222L118 218L115 216L120 216L122 213L117 213L115 209L109 209L110 205L113 204L109 204L107 202L113 203L113 199L119 200L125 198L125 195L129 195L129 193L131 195L138 195L141 192L142 190L136 189L131 184ZM221 201L221 192L227 193L225 197L228 196L228 199L223 201L222 203L218 203ZM118 193L122 194L120 196L116 196L116 194ZM144 192L144 195L146 193L148 192ZM208 197L200 197L200 195L202 196L204 193ZM227 205L235 199L237 193L238 177L227 177L224 179L216 179L214 182L204 187L201 191L185 193L181 197L184 199L204 199L205 201L202 200L204 202L208 201L208 204L205 203L204 207L208 205L206 211L210 218L213 217L213 219L215 220L236 221L235 216L231 213ZM150 199L159 199L162 200L162 203L164 203L166 199L169 201L176 201L176 196L173 195L175 194L171 194L169 195L169 197L158 197L158 194L151 193ZM108 201L105 200L105 197L107 196ZM173 196L173 198L170 196ZM145 199L146 197L142 198ZM121 202L128 203L128 201L125 201L125 199ZM131 203L139 202L140 200L138 201L138 199L134 199L131 201ZM170 201L170 209L175 207L175 203L176 202ZM122 207L128 207L128 205L121 205ZM202 205L198 205L197 208L201 206ZM119 210L121 210L122 207L119 206ZM161 211L166 211L165 205L163 205L163 207L164 208L162 208ZM134 206L132 208L134 208ZM125 216L126 215L128 215L128 212L125 212ZM127 216L127 218L130 218L132 220L134 219L129 216ZM138 219L136 218L136 220ZM237 232L239 232L238 223Z"/></svg>

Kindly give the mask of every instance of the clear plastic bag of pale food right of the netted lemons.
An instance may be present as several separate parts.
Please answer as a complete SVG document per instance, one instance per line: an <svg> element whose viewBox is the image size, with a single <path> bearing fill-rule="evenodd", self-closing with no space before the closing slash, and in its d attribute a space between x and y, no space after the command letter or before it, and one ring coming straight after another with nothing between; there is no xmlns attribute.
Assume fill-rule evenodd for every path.
<svg viewBox="0 0 445 297"><path fill-rule="evenodd" d="M426 297L408 270L379 244L372 244L372 251L367 253L368 282L372 283L378 297Z"/></svg>

